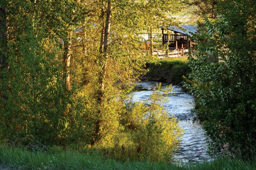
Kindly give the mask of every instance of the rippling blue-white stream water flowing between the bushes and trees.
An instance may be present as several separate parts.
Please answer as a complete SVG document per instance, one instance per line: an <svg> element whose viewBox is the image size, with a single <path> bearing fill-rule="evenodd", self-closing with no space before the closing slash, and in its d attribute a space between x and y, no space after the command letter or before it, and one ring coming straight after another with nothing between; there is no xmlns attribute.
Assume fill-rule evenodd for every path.
<svg viewBox="0 0 256 170"><path fill-rule="evenodd" d="M140 82L133 94L134 101L143 101L156 89L153 81ZM168 84L162 84L162 87ZM198 121L194 121L191 109L194 108L194 97L184 92L180 87L173 86L172 93L165 104L170 115L175 115L180 120L179 125L184 128L183 139L180 143L179 152L175 153L174 160L178 162L201 162L210 160L206 154L207 144L204 130Z"/></svg>

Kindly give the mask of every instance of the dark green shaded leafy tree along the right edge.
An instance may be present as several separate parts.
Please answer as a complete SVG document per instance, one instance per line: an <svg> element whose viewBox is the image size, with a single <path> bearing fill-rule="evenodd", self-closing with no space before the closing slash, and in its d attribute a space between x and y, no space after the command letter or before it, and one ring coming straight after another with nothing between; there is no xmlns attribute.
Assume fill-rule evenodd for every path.
<svg viewBox="0 0 256 170"><path fill-rule="evenodd" d="M212 154L251 156L256 146L255 5L252 0L220 2L216 19L205 20L194 35L186 87L200 106L194 112L206 118Z"/></svg>

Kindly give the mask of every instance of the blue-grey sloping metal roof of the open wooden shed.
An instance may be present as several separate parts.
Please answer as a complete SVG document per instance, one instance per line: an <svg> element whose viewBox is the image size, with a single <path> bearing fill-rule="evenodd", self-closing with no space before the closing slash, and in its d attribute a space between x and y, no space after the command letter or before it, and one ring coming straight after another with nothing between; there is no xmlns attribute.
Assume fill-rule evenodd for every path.
<svg viewBox="0 0 256 170"><path fill-rule="evenodd" d="M182 28L183 30L180 28ZM171 27L168 27L167 29L181 33L181 34L186 34L189 36L192 35L191 33L197 33L197 25L179 25L179 27L171 26Z"/></svg>

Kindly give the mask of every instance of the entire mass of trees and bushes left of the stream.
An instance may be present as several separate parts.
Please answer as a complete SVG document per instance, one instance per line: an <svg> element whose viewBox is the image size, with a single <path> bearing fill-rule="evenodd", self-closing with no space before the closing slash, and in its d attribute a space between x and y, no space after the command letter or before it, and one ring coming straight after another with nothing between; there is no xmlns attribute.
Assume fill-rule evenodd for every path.
<svg viewBox="0 0 256 170"><path fill-rule="evenodd" d="M1 1L1 143L31 150L93 146L118 155L124 150L120 141L130 136L124 157L170 159L181 129L158 107L160 92L150 98L154 104L148 107L128 107L126 102L145 72L140 35L152 19L147 5L158 23L167 25L165 13L174 12L180 3L166 1L173 5L167 9L154 7L157 2ZM122 121L135 113L134 108L140 116L130 129Z"/></svg>

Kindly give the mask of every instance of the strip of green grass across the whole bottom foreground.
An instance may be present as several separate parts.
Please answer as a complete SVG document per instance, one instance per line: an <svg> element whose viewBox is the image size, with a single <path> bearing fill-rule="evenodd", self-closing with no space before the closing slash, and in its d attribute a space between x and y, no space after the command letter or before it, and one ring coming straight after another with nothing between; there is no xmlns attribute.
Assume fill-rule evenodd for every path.
<svg viewBox="0 0 256 170"><path fill-rule="evenodd" d="M171 169L171 170L253 170L256 163L236 159L216 159L196 164L166 164L105 159L96 152L29 152L0 147L0 169Z"/></svg>

